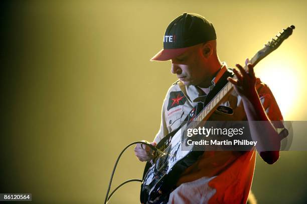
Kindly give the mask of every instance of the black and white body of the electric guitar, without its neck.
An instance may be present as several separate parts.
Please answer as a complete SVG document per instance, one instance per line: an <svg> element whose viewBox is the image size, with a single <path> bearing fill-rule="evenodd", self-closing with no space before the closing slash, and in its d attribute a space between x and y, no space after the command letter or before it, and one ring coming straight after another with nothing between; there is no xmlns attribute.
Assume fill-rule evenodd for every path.
<svg viewBox="0 0 307 204"><path fill-rule="evenodd" d="M174 136L178 136L181 134L180 132L181 130L177 129L165 136L157 144L157 148L161 151L171 148L176 140ZM176 149L174 146L173 148ZM181 173L203 153L203 151L189 151L187 155L182 157L176 156L178 151L181 151L180 147L163 157L155 158L152 163L146 163L140 191L141 203L167 202L171 191L176 188ZM175 164L172 165L173 163Z"/></svg>

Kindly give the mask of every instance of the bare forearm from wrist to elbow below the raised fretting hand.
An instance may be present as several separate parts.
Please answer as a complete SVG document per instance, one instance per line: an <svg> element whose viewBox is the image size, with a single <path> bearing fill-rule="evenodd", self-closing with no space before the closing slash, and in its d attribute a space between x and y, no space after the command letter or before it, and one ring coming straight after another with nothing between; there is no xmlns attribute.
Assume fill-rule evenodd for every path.
<svg viewBox="0 0 307 204"><path fill-rule="evenodd" d="M274 163L279 157L280 140L277 131L267 117L256 90L242 98L253 141L256 149L268 163ZM266 121L266 122L257 122Z"/></svg>

